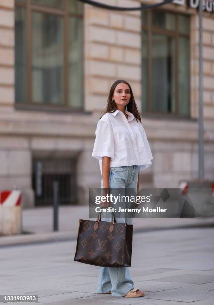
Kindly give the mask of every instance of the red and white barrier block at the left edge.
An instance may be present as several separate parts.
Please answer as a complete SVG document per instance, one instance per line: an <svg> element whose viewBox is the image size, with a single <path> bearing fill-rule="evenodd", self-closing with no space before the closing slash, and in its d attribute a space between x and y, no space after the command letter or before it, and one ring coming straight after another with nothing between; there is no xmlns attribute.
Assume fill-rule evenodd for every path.
<svg viewBox="0 0 214 305"><path fill-rule="evenodd" d="M0 192L0 235L21 233L21 191Z"/></svg>

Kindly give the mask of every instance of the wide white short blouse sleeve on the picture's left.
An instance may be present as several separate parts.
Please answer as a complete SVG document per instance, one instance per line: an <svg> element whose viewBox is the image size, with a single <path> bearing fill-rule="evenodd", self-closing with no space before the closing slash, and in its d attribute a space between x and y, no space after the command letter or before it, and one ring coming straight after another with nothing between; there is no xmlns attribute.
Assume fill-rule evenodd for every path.
<svg viewBox="0 0 214 305"><path fill-rule="evenodd" d="M111 124L105 120L99 120L95 135L92 157L99 160L102 160L103 156L114 158L114 138Z"/></svg>

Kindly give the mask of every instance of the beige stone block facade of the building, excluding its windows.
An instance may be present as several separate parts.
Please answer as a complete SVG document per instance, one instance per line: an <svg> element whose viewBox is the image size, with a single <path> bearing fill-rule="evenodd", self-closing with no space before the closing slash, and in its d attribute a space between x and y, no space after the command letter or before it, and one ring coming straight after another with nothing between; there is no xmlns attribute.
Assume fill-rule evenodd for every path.
<svg viewBox="0 0 214 305"><path fill-rule="evenodd" d="M99 2L134 7L140 0ZM155 2L158 1L142 1L144 4ZM90 5L83 8L83 110L18 107L15 98L15 1L0 1L0 190L16 185L23 192L23 206L34 206L33 160L72 159L75 189L71 192L77 194L79 204L86 204L88 189L99 187L101 178L98 162L91 157L96 123L106 105L111 84L120 78L132 85L154 157L153 165L140 174L141 186L178 187L180 180L197 178L198 11L176 4L164 5L159 11L189 16L190 113L187 118L143 111L141 12L118 12ZM203 17L205 178L213 179L214 13L204 12Z"/></svg>

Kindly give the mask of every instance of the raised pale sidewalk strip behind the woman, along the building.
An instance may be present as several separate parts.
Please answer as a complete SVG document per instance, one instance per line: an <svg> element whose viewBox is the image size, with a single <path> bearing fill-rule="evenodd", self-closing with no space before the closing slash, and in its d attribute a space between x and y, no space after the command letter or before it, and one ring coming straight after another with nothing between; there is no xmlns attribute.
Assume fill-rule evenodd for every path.
<svg viewBox="0 0 214 305"><path fill-rule="evenodd" d="M52 207L25 209L22 211L24 234L0 236L0 246L75 240L79 219L89 219L88 206L62 206L59 208L59 232L53 232ZM165 230L186 227L214 227L210 218L143 218L134 219L134 232Z"/></svg>

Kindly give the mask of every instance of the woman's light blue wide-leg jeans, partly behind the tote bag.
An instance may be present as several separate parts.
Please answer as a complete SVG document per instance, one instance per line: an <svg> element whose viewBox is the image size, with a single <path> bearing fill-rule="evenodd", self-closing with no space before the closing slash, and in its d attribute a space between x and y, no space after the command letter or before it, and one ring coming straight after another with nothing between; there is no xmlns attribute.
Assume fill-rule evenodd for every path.
<svg viewBox="0 0 214 305"><path fill-rule="evenodd" d="M137 190L138 170L137 165L111 167L109 175L110 188L132 188ZM103 183L101 181L101 188ZM110 221L104 218L104 221ZM116 222L132 223L132 218L116 218ZM98 277L97 293L111 291L115 297L125 296L132 288L134 282L130 274L129 267L100 267Z"/></svg>

